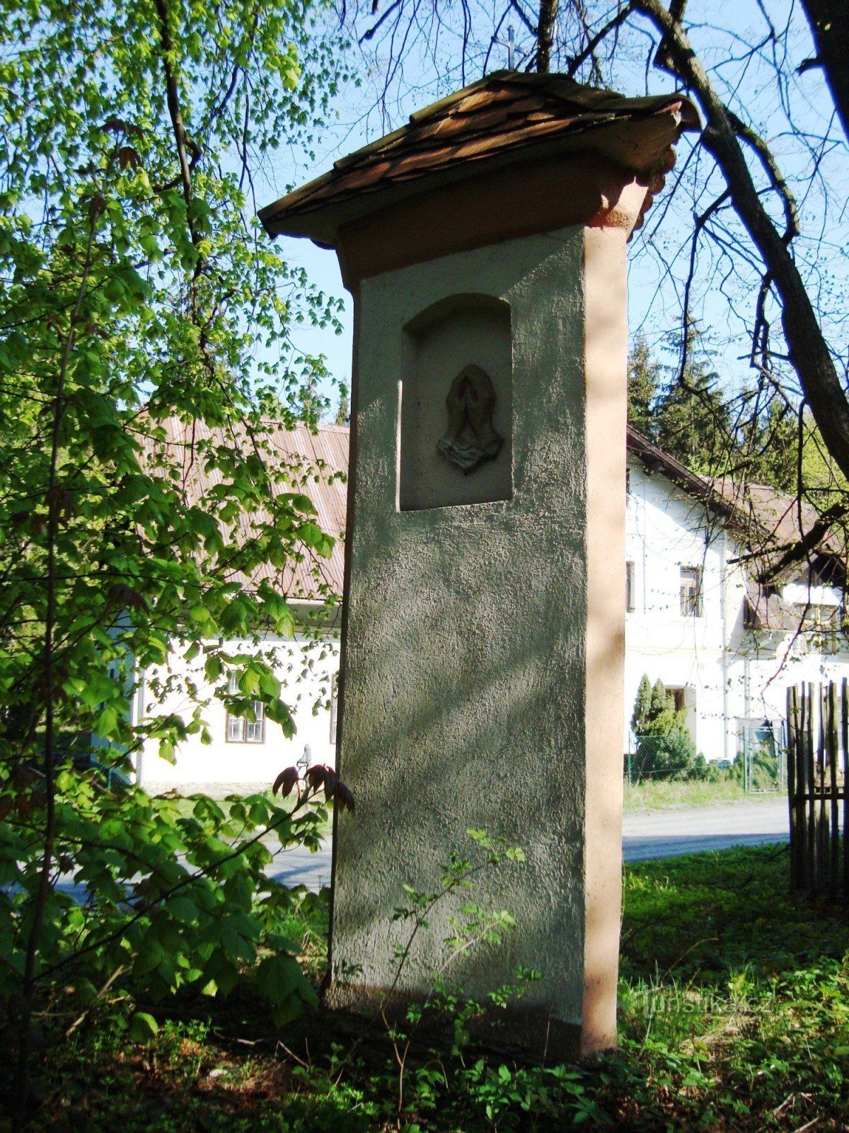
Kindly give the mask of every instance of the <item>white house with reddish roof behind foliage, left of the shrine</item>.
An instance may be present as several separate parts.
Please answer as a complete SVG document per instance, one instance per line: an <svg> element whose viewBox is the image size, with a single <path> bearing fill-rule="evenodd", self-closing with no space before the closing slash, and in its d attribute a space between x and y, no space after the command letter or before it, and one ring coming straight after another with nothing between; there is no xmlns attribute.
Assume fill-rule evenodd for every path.
<svg viewBox="0 0 849 1133"><path fill-rule="evenodd" d="M170 443L179 454L185 427L165 423ZM196 431L197 432L197 431ZM307 760L333 764L336 757L336 674L340 664L340 608L328 614L321 591L342 594L348 499L349 431L343 426L320 425L311 432L306 425L272 431L265 442L274 446L281 462L290 469L297 491L308 495L316 506L316 522L336 536L328 560L317 560L303 548L303 561L291 562L280 571L268 565L273 578L299 616L291 639L267 636L261 641L223 641L228 654L245 657L261 653L283 685L282 698L292 712L295 734L288 739L280 724L266 719L261 701L254 702L256 719L228 713L205 680L203 657L186 661L172 651L166 666L136 674L137 692L132 704L135 719L156 704L157 714L174 713L185 719L201 706L206 740L191 735L177 750L175 763L160 758L158 744L147 741L135 757L137 781L152 792L245 790L271 785L284 767ZM187 449L187 452L189 450ZM201 462L186 458L187 477L197 480L203 495L209 484ZM213 476L215 474L212 474ZM314 570L312 568L317 568ZM162 690L162 691L161 691ZM234 690L233 690L234 691Z"/></svg>

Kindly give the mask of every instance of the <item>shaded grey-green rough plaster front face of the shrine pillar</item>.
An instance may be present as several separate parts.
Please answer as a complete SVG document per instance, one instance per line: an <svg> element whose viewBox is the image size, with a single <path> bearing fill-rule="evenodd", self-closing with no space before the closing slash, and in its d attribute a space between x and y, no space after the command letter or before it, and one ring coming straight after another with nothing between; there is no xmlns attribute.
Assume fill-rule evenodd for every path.
<svg viewBox="0 0 849 1133"><path fill-rule="evenodd" d="M394 946L408 931L393 921L405 903L403 884L436 892L452 850L474 855L465 834L472 827L521 845L528 861L483 871L471 893L437 905L398 989L427 994L445 961L444 938L453 935L448 918L474 901L508 910L517 927L444 974L480 995L512 981L520 964L538 969L542 980L524 1007L582 1022L583 263L584 229L569 228L388 272L359 288L338 765L357 810L340 816L335 849L332 965L340 1004L355 1004L355 987L393 983ZM453 296L466 297L466 314L441 338L422 332L430 335L422 363L422 313L451 310ZM470 296L501 301L479 304L478 331ZM501 312L495 330L494 310ZM499 370L495 424L506 435L492 466L468 477L441 455L431 460L419 435L445 419L463 318L466 361ZM494 341L505 326L506 361ZM488 350L484 364L475 352ZM411 391L418 425L402 420L413 409ZM400 468L413 459L419 465L406 468L402 491ZM423 495L413 488L412 509L401 510L418 476L432 483ZM475 477L492 486L477 488ZM489 501L427 505L469 494Z"/></svg>

